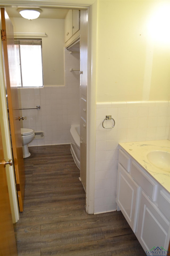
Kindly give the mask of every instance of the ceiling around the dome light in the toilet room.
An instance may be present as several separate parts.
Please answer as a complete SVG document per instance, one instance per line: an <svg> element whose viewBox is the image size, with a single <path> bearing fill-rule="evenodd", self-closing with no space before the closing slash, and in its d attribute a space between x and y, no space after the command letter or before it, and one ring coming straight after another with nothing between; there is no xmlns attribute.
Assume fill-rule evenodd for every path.
<svg viewBox="0 0 170 256"><path fill-rule="evenodd" d="M29 7L30 8L30 7ZM17 11L18 7L5 7L6 12L10 18L22 18L22 16ZM44 19L65 19L68 9L56 9L56 8L41 8L42 13L39 18Z"/></svg>

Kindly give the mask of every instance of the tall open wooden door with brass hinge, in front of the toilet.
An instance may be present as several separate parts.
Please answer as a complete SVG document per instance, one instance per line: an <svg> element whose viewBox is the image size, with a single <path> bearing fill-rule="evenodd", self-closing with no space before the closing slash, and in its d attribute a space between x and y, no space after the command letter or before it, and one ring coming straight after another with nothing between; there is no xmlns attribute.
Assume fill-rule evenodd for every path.
<svg viewBox="0 0 170 256"><path fill-rule="evenodd" d="M14 32L4 8L1 8L1 31L16 187L19 210L23 211L25 172L20 130L20 122L22 121L19 120L18 91L15 77Z"/></svg>

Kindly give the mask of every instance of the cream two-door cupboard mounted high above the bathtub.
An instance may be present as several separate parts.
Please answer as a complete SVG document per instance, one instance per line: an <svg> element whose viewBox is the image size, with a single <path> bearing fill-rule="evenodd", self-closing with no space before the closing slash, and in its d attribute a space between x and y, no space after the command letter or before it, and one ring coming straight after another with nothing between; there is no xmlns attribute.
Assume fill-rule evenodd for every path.
<svg viewBox="0 0 170 256"><path fill-rule="evenodd" d="M80 29L80 11L69 10L65 22L65 43Z"/></svg>

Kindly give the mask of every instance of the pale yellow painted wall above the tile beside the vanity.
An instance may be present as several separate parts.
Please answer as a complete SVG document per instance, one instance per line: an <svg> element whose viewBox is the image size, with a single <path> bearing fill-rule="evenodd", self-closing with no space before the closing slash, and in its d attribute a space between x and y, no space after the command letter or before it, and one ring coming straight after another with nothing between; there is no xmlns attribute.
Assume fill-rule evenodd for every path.
<svg viewBox="0 0 170 256"><path fill-rule="evenodd" d="M153 40L148 32L164 4L170 10L169 1L98 1L97 102L170 99L170 40ZM164 26L170 33L170 21ZM160 30L156 25L159 39Z"/></svg>

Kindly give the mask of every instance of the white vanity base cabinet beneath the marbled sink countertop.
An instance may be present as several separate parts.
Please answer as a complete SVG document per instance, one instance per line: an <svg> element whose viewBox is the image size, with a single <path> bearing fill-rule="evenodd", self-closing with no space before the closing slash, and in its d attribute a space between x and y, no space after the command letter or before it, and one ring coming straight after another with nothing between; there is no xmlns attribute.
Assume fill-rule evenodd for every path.
<svg viewBox="0 0 170 256"><path fill-rule="evenodd" d="M123 149L119 150L116 202L146 253L154 246L168 249L170 194Z"/></svg>

